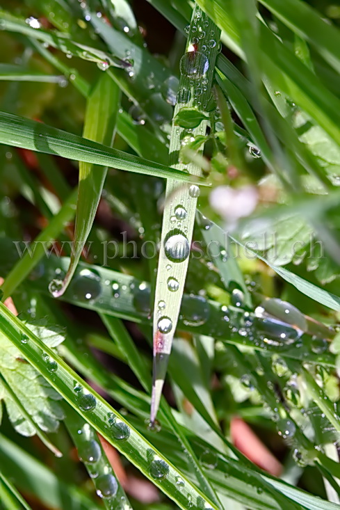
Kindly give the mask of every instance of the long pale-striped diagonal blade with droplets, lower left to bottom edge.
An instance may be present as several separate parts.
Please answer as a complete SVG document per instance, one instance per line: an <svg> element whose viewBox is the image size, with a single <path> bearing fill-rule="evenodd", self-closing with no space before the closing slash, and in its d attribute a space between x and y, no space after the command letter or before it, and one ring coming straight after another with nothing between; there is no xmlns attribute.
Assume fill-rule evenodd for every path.
<svg viewBox="0 0 340 510"><path fill-rule="evenodd" d="M133 429L122 415L109 406L60 356L33 335L31 330L2 303L0 303L0 329L79 415L136 465L136 468L152 480L152 483L156 484L163 493L174 500L181 509L185 510L188 501L192 501L195 502L193 507L195 509L205 504L211 509L218 510L216 504L186 479L168 459L165 459L140 433ZM22 334L29 338L26 344L21 341ZM50 372L44 362L42 358L44 353L56 362L57 369L54 372ZM108 422L108 417L112 418L112 422ZM178 477L184 480L181 490L177 486Z"/></svg>

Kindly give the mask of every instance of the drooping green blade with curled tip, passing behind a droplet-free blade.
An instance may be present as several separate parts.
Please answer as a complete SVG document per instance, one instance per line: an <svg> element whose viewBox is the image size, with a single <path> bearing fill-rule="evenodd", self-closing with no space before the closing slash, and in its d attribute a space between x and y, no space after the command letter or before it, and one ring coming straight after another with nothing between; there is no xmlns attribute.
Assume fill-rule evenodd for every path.
<svg viewBox="0 0 340 510"><path fill-rule="evenodd" d="M115 125L120 106L120 89L107 74L102 74L88 97L83 137L111 146L115 137ZM70 283L76 264L88 239L95 214L102 195L107 166L95 166L79 162L79 186L76 202L76 225L74 228L73 250L70 267L60 288L52 292L61 296Z"/></svg>

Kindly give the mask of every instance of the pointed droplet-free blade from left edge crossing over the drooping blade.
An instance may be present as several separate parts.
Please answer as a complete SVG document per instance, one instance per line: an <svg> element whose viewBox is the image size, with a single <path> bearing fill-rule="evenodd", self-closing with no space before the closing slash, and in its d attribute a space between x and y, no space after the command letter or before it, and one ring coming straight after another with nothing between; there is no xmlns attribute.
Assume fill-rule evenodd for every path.
<svg viewBox="0 0 340 510"><path fill-rule="evenodd" d="M0 143L118 168L118 170L204 184L204 180L194 179L177 168L168 168L154 161L106 147L101 143L11 113L0 112Z"/></svg>

